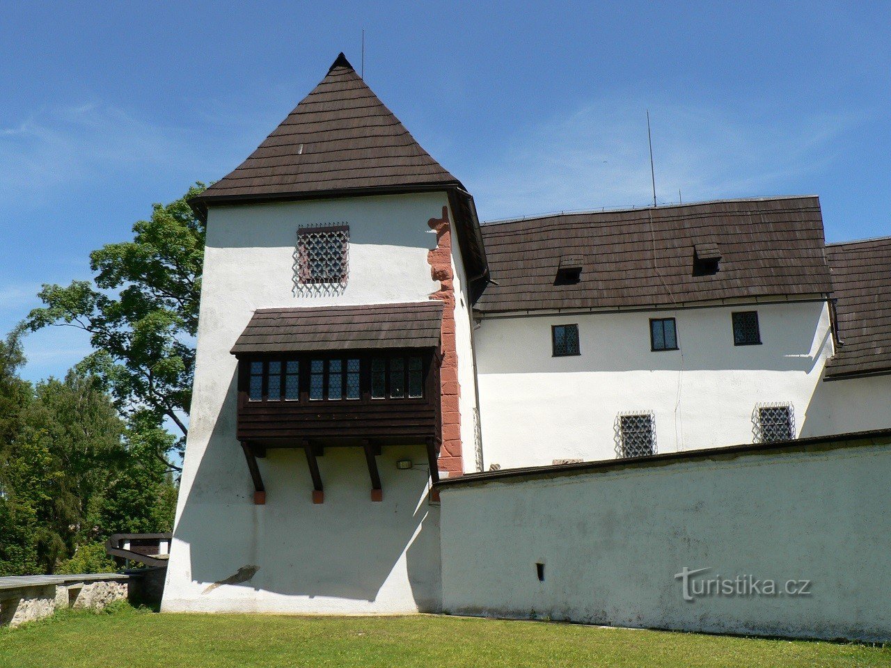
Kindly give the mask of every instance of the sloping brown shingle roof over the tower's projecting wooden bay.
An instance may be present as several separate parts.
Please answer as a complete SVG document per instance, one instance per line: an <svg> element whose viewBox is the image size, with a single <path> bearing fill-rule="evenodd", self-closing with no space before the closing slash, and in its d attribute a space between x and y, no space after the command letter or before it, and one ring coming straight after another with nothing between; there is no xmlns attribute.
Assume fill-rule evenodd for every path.
<svg viewBox="0 0 891 668"><path fill-rule="evenodd" d="M231 352L435 347L439 345L442 312L440 301L259 308Z"/></svg>

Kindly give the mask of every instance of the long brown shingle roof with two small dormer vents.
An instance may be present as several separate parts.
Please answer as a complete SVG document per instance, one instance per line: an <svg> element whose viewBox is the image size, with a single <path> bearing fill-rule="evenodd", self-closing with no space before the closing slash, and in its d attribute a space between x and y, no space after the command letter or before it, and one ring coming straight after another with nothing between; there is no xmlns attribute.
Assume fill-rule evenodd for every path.
<svg viewBox="0 0 891 668"><path fill-rule="evenodd" d="M492 280L481 313L649 307L832 289L813 196L542 216L482 225ZM721 256L692 275L694 248ZM565 255L581 280L554 285Z"/></svg>

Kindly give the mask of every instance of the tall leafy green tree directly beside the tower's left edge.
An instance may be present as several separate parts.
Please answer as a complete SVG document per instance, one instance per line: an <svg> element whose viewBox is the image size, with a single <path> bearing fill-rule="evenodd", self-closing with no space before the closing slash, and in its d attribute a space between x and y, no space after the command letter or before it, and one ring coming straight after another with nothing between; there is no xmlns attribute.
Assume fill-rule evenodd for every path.
<svg viewBox="0 0 891 668"><path fill-rule="evenodd" d="M181 437L170 449L178 452L192 401L205 237L187 200L204 187L196 183L179 200L155 204L151 218L133 226L133 240L95 250L94 281L45 285L38 295L44 306L27 321L31 330L64 325L88 332L95 352L80 369L102 379L119 410L155 426L176 424ZM154 456L177 468L167 454Z"/></svg>

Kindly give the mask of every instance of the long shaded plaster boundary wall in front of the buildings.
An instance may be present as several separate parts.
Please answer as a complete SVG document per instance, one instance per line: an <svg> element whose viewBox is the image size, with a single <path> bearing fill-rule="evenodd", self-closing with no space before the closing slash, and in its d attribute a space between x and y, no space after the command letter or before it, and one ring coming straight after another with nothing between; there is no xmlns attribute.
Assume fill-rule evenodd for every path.
<svg viewBox="0 0 891 668"><path fill-rule="evenodd" d="M443 609L891 640L889 481L891 430L449 478Z"/></svg>

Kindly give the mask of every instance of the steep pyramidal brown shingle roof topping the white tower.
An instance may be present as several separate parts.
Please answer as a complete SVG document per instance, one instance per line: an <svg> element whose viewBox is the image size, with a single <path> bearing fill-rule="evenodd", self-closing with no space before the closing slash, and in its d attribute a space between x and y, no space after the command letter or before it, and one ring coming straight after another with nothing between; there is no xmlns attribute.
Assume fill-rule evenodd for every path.
<svg viewBox="0 0 891 668"><path fill-rule="evenodd" d="M248 159L198 200L413 191L461 183L421 148L340 53Z"/></svg>

